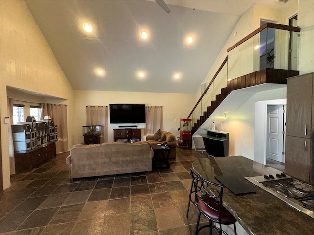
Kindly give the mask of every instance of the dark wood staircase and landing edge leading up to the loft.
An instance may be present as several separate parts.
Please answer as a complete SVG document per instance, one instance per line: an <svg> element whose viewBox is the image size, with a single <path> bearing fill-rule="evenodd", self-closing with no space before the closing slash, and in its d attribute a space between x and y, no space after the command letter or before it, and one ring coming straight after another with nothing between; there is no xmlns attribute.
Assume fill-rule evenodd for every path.
<svg viewBox="0 0 314 235"><path fill-rule="evenodd" d="M207 111L203 112L203 116L194 123L191 130L191 136L193 136L193 134L232 91L265 83L287 84L286 79L288 77L297 75L299 75L299 71L266 68L228 81L227 87L221 89L221 93L216 95L216 100L211 101L211 106L208 106Z"/></svg>

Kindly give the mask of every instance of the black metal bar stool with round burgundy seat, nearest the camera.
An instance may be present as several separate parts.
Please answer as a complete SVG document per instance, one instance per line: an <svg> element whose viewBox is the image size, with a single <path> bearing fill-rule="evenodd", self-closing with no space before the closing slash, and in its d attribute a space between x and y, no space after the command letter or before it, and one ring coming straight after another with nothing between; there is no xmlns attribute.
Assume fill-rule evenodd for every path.
<svg viewBox="0 0 314 235"><path fill-rule="evenodd" d="M212 235L212 229L216 229L220 235L222 233L228 235L225 231L222 230L221 225L234 225L235 235L236 235L236 219L235 217L222 205L222 195L224 186L210 182L198 175L195 175L196 179L200 181L196 185L198 194L197 194L197 207L199 209L195 235L198 232L206 227L210 228L210 235ZM201 228L199 227L200 217L203 214L206 218L209 219L209 225L204 225ZM213 225L213 222L218 223L219 227Z"/></svg>

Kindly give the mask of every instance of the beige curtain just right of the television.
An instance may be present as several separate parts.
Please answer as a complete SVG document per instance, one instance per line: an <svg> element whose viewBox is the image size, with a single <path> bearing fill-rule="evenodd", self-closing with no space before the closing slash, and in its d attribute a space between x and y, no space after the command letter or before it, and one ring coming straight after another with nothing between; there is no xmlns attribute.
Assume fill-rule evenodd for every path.
<svg viewBox="0 0 314 235"><path fill-rule="evenodd" d="M153 135L158 129L163 130L162 106L145 107L145 135Z"/></svg>

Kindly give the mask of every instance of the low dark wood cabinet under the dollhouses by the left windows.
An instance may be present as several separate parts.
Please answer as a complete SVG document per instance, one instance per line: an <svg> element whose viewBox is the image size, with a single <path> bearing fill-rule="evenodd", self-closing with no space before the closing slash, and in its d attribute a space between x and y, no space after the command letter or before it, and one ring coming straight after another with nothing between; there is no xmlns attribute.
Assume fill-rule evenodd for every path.
<svg viewBox="0 0 314 235"><path fill-rule="evenodd" d="M31 171L32 168L44 164L54 157L56 157L55 142L24 153L16 152L14 153L15 172Z"/></svg>

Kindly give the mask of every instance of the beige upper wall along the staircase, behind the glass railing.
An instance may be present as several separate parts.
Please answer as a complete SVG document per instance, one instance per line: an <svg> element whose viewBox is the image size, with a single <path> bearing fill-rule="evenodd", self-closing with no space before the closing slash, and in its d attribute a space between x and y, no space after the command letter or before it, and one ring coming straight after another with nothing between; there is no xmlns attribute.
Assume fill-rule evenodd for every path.
<svg viewBox="0 0 314 235"><path fill-rule="evenodd" d="M230 34L228 40L226 41L224 47L221 49L219 55L217 56L214 64L209 69L203 82L210 81L221 63L228 55L228 78L236 78L248 73L253 72L256 68L257 61L253 58L253 50L249 48L254 48L256 44L254 42L259 41L257 36L252 40L246 41L244 46L236 47L227 53L227 49L233 46L235 43L240 41L242 38L246 37L248 34L260 27L260 20L268 20L277 22L278 24L286 24L286 19L292 16L292 12L297 12L297 1L292 1L289 8L284 11L278 9L271 9L264 6L253 6L244 15L241 16L238 23L235 25L234 30ZM236 35L234 36L236 32ZM222 76L221 79L225 80L226 77ZM219 80L219 78L218 78ZM225 81L215 81L215 83L225 84ZM216 89L220 88L216 86ZM216 90L215 89L215 90ZM215 91L215 94L220 94L220 91ZM200 97L200 89L195 94L195 99Z"/></svg>

